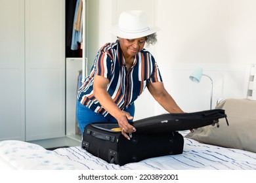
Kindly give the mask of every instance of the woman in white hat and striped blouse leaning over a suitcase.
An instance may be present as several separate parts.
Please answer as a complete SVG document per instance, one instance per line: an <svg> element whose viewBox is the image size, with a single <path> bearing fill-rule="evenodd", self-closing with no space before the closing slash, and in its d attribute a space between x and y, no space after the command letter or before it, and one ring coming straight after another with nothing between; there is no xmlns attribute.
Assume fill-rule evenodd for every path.
<svg viewBox="0 0 256 183"><path fill-rule="evenodd" d="M136 131L132 122L134 101L148 88L151 95L170 113L182 112L165 90L152 54L144 44L156 42L158 27L149 27L142 11L122 12L112 33L117 41L107 43L96 55L91 74L77 92L77 121L81 133L92 122L118 122L121 133Z"/></svg>

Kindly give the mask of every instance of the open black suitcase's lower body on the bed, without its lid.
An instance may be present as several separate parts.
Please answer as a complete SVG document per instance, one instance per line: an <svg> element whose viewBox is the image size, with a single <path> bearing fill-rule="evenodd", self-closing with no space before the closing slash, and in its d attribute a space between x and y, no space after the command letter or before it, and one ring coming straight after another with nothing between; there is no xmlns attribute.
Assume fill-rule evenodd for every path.
<svg viewBox="0 0 256 183"><path fill-rule="evenodd" d="M111 129L117 123L94 123L85 127L82 148L108 163L125 165L147 158L182 154L184 139L177 131L158 135L132 133L127 140Z"/></svg>

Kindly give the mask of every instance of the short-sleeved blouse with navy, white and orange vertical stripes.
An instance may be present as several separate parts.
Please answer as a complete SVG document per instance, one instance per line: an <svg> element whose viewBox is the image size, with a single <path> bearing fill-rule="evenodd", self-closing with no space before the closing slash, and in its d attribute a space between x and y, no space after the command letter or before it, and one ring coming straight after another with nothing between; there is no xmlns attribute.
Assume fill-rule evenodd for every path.
<svg viewBox="0 0 256 183"><path fill-rule="evenodd" d="M93 95L95 75L108 78L108 93L121 110L129 107L139 97L146 84L162 81L158 65L147 50L142 49L137 54L133 66L127 71L119 41L105 44L96 55L90 75L77 92L77 99L81 104L103 116L107 116L108 111Z"/></svg>

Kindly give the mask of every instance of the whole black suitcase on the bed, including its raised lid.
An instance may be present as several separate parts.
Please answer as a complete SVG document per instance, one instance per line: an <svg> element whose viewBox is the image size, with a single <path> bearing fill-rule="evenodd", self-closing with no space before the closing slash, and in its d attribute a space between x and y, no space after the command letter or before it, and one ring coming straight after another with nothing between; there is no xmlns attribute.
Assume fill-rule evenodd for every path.
<svg viewBox="0 0 256 183"><path fill-rule="evenodd" d="M85 127L82 148L108 163L125 165L142 159L182 154L184 139L177 131L218 124L226 118L223 109L161 114L132 122L137 129L131 140L111 129L117 123L94 123ZM228 124L228 121L226 120Z"/></svg>

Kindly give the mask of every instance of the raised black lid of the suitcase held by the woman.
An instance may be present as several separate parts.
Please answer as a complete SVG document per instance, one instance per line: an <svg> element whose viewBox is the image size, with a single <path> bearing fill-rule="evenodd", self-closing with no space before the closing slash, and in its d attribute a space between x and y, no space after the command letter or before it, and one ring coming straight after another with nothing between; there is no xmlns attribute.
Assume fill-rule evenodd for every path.
<svg viewBox="0 0 256 183"><path fill-rule="evenodd" d="M161 114L144 118L131 123L137 133L170 133L171 131L182 131L196 129L206 125L215 125L219 127L219 119L225 118L223 109L203 110L199 112ZM228 125L228 120L226 119Z"/></svg>

